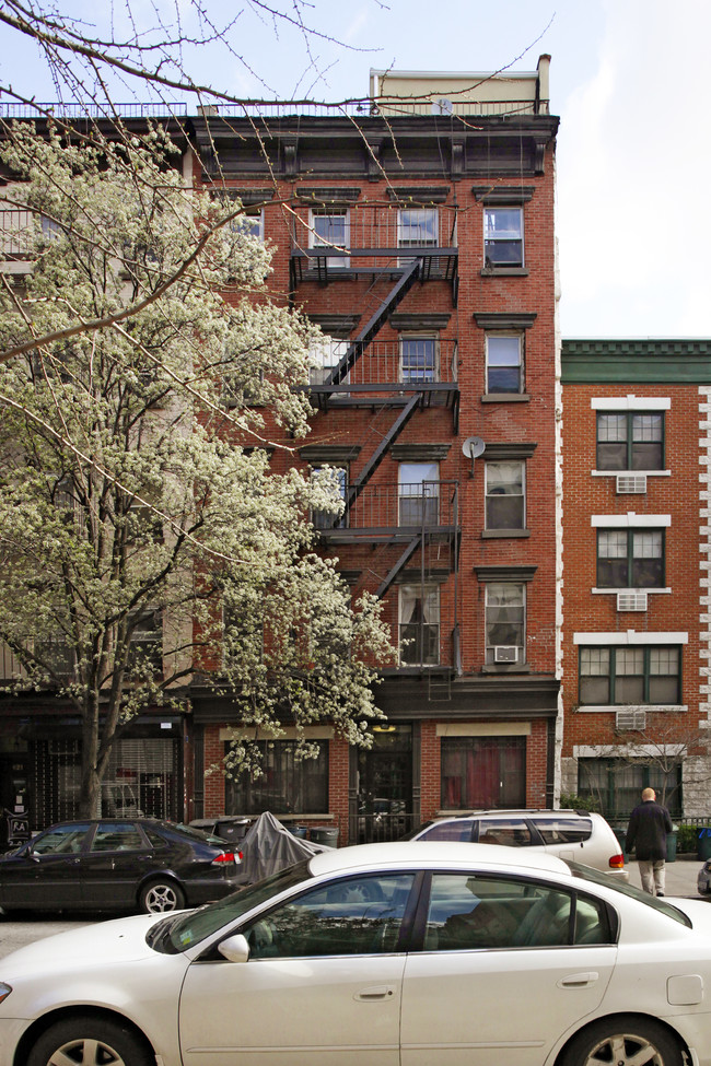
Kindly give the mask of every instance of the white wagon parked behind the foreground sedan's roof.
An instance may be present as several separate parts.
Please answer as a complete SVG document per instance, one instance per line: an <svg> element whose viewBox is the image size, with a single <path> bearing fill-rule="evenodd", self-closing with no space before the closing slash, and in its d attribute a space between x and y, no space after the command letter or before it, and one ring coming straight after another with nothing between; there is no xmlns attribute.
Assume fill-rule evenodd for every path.
<svg viewBox="0 0 711 1066"><path fill-rule="evenodd" d="M426 822L404 839L529 847L629 879L615 833L602 815L586 810L468 811Z"/></svg>

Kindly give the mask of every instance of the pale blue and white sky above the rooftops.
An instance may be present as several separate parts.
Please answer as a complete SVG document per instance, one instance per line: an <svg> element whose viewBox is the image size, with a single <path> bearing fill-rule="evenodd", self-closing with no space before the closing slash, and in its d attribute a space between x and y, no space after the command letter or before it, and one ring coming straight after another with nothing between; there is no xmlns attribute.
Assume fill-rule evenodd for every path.
<svg viewBox="0 0 711 1066"><path fill-rule="evenodd" d="M371 67L533 70L547 52L551 113L560 116L562 336L711 337L709 0L296 2L324 35L311 36L307 49L254 0L203 0L215 20L235 21L230 47L186 50L194 80L240 96L335 101L366 95ZM293 0L277 3L299 10ZM152 25L155 5L164 5L189 30L190 4L131 0L133 22ZM118 2L63 0L61 10L82 15L89 32L97 11L110 11L118 32L127 31ZM36 47L7 26L0 80L37 99L57 98ZM113 96L130 98L123 85Z"/></svg>

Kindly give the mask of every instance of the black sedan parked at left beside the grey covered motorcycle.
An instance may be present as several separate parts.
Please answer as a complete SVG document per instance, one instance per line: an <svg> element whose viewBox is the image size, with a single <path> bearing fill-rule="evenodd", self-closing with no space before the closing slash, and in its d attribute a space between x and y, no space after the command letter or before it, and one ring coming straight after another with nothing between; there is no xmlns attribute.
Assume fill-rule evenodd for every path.
<svg viewBox="0 0 711 1066"><path fill-rule="evenodd" d="M61 822L0 858L8 911L131 911L200 906L237 887L229 844L153 818Z"/></svg>

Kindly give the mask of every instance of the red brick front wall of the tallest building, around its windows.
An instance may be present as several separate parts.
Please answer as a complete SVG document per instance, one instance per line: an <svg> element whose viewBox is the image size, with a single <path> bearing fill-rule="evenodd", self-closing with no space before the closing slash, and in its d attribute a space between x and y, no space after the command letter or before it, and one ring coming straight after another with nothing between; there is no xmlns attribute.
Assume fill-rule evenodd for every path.
<svg viewBox="0 0 711 1066"><path fill-rule="evenodd" d="M300 458L289 460L280 452L273 459L278 471L288 461L304 471L322 462L348 467L348 485L358 487L348 524L337 538L325 532L323 548L338 555L354 596L382 586L395 643L404 610L398 606L401 589L435 587L439 596L439 640L430 648L430 660L404 661L386 670L376 689L389 734L376 735L373 752L365 755L349 752L341 740L330 738L328 810L290 815L311 824L318 823L318 816L330 817L341 842L370 839L372 825L365 821L375 818L373 804L377 803L384 805L383 835L398 835L444 809L445 776L458 775L457 787L467 797L478 795L476 768L500 760L499 771L490 774L493 782L506 776L508 758L512 762L506 765L515 768L517 803L549 806L558 690L557 120L536 114L511 125L481 118L476 126L457 125L454 131L430 116L387 125L371 118L364 125L368 128L359 131L345 119L312 119L294 133L277 124L270 129L268 147L275 165L267 180L249 124L210 121L209 139L198 125L203 155L195 164L195 173L206 181L208 173L215 174L205 154L209 144L228 188L254 202L268 186L264 234L276 245L268 281L276 298L287 300L290 294L324 332L347 343L359 339L376 308L385 309L380 328L353 360L350 376L341 379L351 386L352 395L345 387L340 394L314 394L312 433L296 447ZM388 154L393 137L396 156ZM383 145L384 171L371 165L365 140ZM313 250L312 258L299 259L311 239L308 204L313 203L320 204L322 213L348 212L351 258L340 270L325 255L316 258ZM485 262L485 212L492 206L521 211L522 265L492 268ZM427 242L421 247L406 245L418 261L419 274L407 295L394 301L392 293L405 266L393 248L401 234L403 212L408 210L426 212L428 224L436 219L439 232L430 244L438 254L430 258ZM304 220L301 229L296 223L301 236L295 241L294 215ZM365 222L371 227L368 237ZM487 336L520 341L521 379L511 391L488 387ZM417 383L419 391L401 368L400 342L408 337L431 340L431 350L436 351L438 366ZM343 393L350 397L346 401ZM396 432L397 419L415 395L421 402ZM474 461L463 453L471 437L485 447ZM288 443L293 447L294 442ZM485 469L490 461L525 469L525 519L517 527L486 529ZM440 508L434 528L406 562L401 562L401 513L397 517L403 506L398 489L403 464L436 464ZM509 611L514 619L511 632L523 634L504 651L515 653L514 661L493 660L493 645L501 642L493 636L487 641L487 589L489 625L497 610L496 618L504 617L509 624ZM506 606L509 596L513 606ZM428 625L420 624L421 635ZM490 632L499 630L494 626ZM229 707L222 708L220 717L215 706L199 701L194 702L194 718L199 783L203 768L223 753L220 728L232 723ZM479 749L486 749L486 754ZM466 771L461 769L465 764ZM500 783L487 793L491 806L505 806L503 795ZM465 806L469 805L470 799ZM218 774L205 780L197 806L206 815L224 810L224 782Z"/></svg>

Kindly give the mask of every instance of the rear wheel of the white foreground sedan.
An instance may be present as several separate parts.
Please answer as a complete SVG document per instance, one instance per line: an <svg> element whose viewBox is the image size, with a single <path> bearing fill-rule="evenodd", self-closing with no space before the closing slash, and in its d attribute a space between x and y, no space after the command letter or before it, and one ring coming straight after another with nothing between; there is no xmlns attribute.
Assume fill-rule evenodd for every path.
<svg viewBox="0 0 711 1066"><path fill-rule="evenodd" d="M677 1041L654 1021L631 1015L601 1019L570 1042L562 1066L684 1066Z"/></svg>

